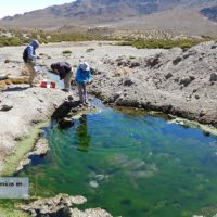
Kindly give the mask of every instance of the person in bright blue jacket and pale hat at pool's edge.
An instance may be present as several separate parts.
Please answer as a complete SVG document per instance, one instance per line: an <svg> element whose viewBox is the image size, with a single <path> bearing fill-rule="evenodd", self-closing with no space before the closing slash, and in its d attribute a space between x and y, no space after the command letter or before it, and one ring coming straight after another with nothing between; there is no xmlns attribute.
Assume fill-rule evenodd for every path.
<svg viewBox="0 0 217 217"><path fill-rule="evenodd" d="M78 94L79 94L79 100L80 103L84 105L88 105L88 100L87 100L87 89L86 85L89 84L92 79L91 73L90 73L90 67L87 62L79 63L79 66L76 71L76 82L78 86Z"/></svg>

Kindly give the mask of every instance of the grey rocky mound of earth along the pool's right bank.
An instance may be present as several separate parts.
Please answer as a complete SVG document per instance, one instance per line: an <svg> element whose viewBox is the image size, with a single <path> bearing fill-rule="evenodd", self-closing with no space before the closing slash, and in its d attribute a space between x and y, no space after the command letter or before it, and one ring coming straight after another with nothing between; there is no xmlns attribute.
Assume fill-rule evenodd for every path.
<svg viewBox="0 0 217 217"><path fill-rule="evenodd" d="M215 42L143 56L104 56L91 92L116 105L163 111L217 126ZM139 52L139 51L138 51Z"/></svg>

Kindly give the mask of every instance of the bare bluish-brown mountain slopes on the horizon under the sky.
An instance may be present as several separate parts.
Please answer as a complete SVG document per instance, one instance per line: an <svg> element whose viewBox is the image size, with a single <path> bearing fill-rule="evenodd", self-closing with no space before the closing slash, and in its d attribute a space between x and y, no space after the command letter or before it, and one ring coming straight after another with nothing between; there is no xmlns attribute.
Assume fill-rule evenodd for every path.
<svg viewBox="0 0 217 217"><path fill-rule="evenodd" d="M199 14L199 17L195 20L191 18L191 13L189 13L188 21L193 24L193 22L200 22L199 18L203 18L200 10L215 3L217 4L217 0L77 0L72 3L51 5L42 10L17 14L15 16L7 16L0 20L0 24L10 27L46 29L56 29L62 26L116 26L118 28L125 26L145 28L146 26L143 24L150 17L154 17L148 27L158 28L158 24L154 23L155 20L157 21L158 14L165 14L165 17L175 17L176 20L177 10L184 14L186 11L192 9L194 13ZM146 17L149 18L146 20ZM164 20L161 15L159 23L163 22L162 18ZM177 23L173 25L173 20L167 21L166 18L169 22L169 29L177 28ZM130 23L130 25L126 25L127 23ZM207 26L207 24L204 25ZM167 28L166 24L163 26ZM200 28L202 27L200 26ZM184 28L186 26L183 25L182 29L184 30Z"/></svg>

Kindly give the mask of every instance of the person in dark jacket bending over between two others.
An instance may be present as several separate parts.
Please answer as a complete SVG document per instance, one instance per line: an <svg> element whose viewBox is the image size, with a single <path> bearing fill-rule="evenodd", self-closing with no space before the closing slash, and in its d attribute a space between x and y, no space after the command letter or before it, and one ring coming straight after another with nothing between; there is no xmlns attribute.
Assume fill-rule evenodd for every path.
<svg viewBox="0 0 217 217"><path fill-rule="evenodd" d="M64 91L71 90L71 77L73 75L72 66L67 62L58 62L51 64L51 69L60 76L60 79L64 81Z"/></svg>

